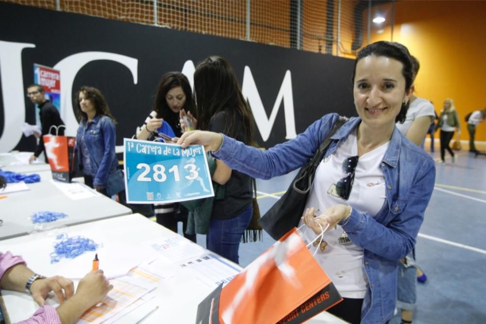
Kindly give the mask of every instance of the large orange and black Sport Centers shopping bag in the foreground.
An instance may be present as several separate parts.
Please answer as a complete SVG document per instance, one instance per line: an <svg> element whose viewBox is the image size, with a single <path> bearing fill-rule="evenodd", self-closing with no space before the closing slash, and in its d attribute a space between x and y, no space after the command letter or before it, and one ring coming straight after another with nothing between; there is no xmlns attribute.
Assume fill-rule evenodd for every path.
<svg viewBox="0 0 486 324"><path fill-rule="evenodd" d="M301 323L340 301L294 228L201 302L196 323Z"/></svg>

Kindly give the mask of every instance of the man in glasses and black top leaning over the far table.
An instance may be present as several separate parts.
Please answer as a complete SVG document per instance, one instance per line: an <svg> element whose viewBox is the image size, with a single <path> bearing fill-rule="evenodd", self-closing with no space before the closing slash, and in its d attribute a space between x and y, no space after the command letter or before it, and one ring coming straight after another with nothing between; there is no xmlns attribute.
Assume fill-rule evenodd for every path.
<svg viewBox="0 0 486 324"><path fill-rule="evenodd" d="M54 127L59 127L64 125L64 122L59 115L59 110L52 105L51 101L47 100L44 94L44 88L38 84L32 84L27 87L27 97L32 101L33 104L37 105L39 108L39 120L40 120L40 128L41 133L35 134L35 137L39 138L39 144L37 144L37 148L34 151L34 154L29 158L29 163L32 163L39 157L39 155L45 151L44 147L44 140L42 136L47 134L52 135L64 135L64 127L60 127L56 134L56 130ZM45 154L45 160L47 160L47 154Z"/></svg>

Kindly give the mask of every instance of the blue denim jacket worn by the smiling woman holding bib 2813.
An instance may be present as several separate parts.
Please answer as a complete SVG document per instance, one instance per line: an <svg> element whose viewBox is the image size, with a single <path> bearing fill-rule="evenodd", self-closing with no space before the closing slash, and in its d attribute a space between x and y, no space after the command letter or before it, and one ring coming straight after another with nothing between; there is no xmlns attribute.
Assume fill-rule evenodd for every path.
<svg viewBox="0 0 486 324"><path fill-rule="evenodd" d="M213 155L228 167L260 179L270 179L301 167L314 155L339 115L328 114L295 139L269 150L245 146L223 135ZM354 117L331 138L326 156L334 153L361 119ZM397 261L415 246L424 212L434 189L435 162L395 128L381 169L386 200L376 216L353 209L343 226L351 241L364 249L363 266L369 285L364 296L361 323L386 323L397 300Z"/></svg>

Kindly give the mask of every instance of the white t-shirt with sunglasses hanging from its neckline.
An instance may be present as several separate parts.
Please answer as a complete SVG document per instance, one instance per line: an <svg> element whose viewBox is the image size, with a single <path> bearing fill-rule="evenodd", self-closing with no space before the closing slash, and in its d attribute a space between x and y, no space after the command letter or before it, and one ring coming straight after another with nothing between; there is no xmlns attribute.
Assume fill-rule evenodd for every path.
<svg viewBox="0 0 486 324"><path fill-rule="evenodd" d="M350 205L359 213L375 216L385 202L385 183L380 163L389 142L359 157L356 166L354 184L348 200L335 194L335 184L347 177L342 169L343 161L358 155L356 130L350 134L334 154L327 157L317 167L315 180L307 200L306 208L316 209L316 215L322 215L335 204ZM336 197L337 196L337 197ZM302 222L301 224L302 225ZM317 235L306 226L304 240L311 242ZM346 298L364 298L368 279L363 268L363 249L352 242L339 243L344 233L342 227L330 229L324 234L328 243L323 252L315 254L317 262L326 271L339 293ZM319 247L311 247L313 253Z"/></svg>

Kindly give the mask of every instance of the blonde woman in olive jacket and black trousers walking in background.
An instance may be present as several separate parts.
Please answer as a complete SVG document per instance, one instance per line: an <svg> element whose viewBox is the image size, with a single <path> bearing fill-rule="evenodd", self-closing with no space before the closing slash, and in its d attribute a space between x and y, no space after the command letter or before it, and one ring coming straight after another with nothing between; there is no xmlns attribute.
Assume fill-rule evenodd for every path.
<svg viewBox="0 0 486 324"><path fill-rule="evenodd" d="M454 106L454 101L450 98L444 101L444 108L440 111L439 122L437 127L440 127L440 162L445 163L446 149L451 154L452 163L455 161L454 152L449 146L454 131L457 128L457 134L461 134L461 123L459 116Z"/></svg>

